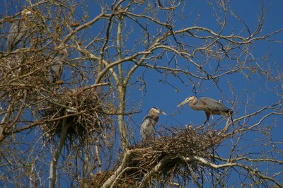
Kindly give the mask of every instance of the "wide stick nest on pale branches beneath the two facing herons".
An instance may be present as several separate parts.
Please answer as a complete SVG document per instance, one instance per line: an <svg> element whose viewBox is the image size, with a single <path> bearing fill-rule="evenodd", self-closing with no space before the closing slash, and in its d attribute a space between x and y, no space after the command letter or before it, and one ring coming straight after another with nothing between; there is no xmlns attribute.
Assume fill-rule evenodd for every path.
<svg viewBox="0 0 283 188"><path fill-rule="evenodd" d="M202 129L203 131L203 129ZM190 179L192 171L196 172L202 165L195 162L187 163L183 158L198 156L212 160L214 149L224 140L214 131L195 131L191 128L172 129L170 136L160 136L140 143L130 150L123 175L119 177L115 186L138 187L146 173L151 172L156 165L161 164L154 176L158 182L168 183L173 177L185 181ZM91 185L100 187L110 175L121 165L122 160L114 170L93 178ZM146 180L148 181L148 180ZM151 182L151 181L150 181Z"/></svg>

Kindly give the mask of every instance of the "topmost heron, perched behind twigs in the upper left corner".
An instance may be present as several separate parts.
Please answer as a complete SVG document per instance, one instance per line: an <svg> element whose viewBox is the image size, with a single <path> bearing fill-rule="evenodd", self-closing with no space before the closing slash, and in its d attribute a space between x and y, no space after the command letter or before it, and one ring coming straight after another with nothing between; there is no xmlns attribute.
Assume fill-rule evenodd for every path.
<svg viewBox="0 0 283 188"><path fill-rule="evenodd" d="M28 16L31 13L31 11L25 8L21 11L21 18L13 21L7 37L7 52L11 52L18 42L23 39L24 35L28 33L27 22Z"/></svg>

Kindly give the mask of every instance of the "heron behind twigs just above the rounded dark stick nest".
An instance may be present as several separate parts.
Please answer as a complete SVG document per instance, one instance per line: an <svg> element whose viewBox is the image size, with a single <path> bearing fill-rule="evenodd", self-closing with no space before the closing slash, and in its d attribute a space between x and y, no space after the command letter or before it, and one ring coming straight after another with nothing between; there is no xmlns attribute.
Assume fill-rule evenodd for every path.
<svg viewBox="0 0 283 188"><path fill-rule="evenodd" d="M54 57L47 70L48 83L55 83L56 81L59 81L62 76L64 61L67 61L68 59L68 51L67 49L62 49L59 51L59 54L61 54L61 56Z"/></svg>

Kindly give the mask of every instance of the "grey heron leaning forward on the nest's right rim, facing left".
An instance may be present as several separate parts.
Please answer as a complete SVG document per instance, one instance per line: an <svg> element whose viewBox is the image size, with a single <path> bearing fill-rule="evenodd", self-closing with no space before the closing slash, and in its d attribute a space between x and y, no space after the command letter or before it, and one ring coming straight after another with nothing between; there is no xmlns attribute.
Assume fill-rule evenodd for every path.
<svg viewBox="0 0 283 188"><path fill-rule="evenodd" d="M180 102L178 107L185 105L188 102L192 110L202 110L205 112L205 114L207 115L207 120L205 120L204 124L209 120L209 117L212 114L229 116L232 118L233 111L224 106L221 102L218 102L212 98L204 97L197 100L197 97L195 96L188 97L183 102Z"/></svg>

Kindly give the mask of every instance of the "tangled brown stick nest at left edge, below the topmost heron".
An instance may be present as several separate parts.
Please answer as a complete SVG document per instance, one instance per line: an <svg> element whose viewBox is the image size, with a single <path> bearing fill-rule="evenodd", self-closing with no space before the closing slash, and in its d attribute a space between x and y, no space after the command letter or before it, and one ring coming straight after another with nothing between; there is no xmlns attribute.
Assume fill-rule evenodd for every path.
<svg viewBox="0 0 283 188"><path fill-rule="evenodd" d="M51 57L45 57L43 52L16 52L0 57L1 102L8 105L9 102L16 101L21 105L23 93L26 92L28 95L24 102L30 106L38 104L42 90L52 88L46 80L50 59ZM14 108L17 108L16 105Z"/></svg>

